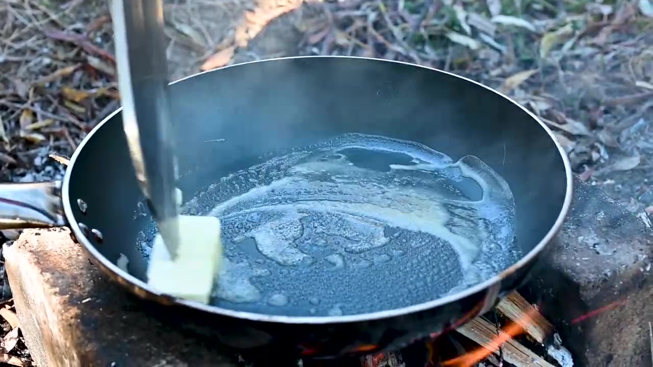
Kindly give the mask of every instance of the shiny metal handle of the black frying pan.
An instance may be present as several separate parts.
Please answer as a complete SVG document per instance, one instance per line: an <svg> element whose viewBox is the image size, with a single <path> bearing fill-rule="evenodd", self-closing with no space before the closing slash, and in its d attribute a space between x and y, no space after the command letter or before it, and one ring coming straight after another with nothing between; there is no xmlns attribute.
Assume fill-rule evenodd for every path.
<svg viewBox="0 0 653 367"><path fill-rule="evenodd" d="M61 181L0 183L0 230L67 225Z"/></svg>

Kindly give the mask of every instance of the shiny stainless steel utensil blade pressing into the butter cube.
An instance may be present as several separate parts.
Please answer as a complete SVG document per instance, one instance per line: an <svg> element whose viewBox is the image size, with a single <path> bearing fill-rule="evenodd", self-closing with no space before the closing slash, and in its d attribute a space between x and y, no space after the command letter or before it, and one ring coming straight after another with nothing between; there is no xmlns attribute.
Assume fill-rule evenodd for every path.
<svg viewBox="0 0 653 367"><path fill-rule="evenodd" d="M168 101L168 66L161 0L113 0L123 128L136 178L170 256L179 229L176 158Z"/></svg>

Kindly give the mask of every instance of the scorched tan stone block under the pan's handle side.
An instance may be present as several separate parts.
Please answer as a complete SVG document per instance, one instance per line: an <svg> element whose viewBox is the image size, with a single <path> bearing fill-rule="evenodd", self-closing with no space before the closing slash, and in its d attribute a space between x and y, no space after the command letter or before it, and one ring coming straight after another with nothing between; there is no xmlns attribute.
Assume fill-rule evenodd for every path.
<svg viewBox="0 0 653 367"><path fill-rule="evenodd" d="M149 317L89 262L69 229L25 230L3 254L38 366L237 366L215 345Z"/></svg>

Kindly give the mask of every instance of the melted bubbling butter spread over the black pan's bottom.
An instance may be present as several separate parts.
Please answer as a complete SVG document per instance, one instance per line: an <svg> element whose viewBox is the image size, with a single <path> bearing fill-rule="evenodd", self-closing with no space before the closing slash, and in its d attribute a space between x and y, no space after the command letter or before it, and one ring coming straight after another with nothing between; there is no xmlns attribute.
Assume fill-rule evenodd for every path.
<svg viewBox="0 0 653 367"><path fill-rule="evenodd" d="M212 304L321 316L434 300L515 263L515 200L479 158L348 133L259 157L183 212L222 221ZM144 208L144 207L143 207ZM143 213L145 214L145 212ZM138 235L147 257L153 223Z"/></svg>

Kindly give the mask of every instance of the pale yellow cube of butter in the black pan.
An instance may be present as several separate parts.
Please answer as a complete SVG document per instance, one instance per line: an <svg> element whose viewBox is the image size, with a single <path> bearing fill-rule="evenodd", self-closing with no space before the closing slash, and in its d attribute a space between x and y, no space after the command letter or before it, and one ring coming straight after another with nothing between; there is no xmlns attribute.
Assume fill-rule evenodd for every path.
<svg viewBox="0 0 653 367"><path fill-rule="evenodd" d="M216 217L179 215L179 248L172 260L157 234L148 265L148 285L161 293L208 303L220 270L222 245Z"/></svg>

